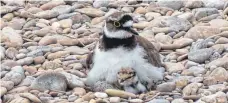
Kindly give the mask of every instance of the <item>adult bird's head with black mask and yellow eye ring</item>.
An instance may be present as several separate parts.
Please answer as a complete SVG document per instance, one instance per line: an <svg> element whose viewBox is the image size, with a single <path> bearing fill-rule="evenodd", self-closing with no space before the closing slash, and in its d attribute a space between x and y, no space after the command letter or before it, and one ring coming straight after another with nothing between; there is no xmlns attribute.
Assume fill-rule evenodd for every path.
<svg viewBox="0 0 228 103"><path fill-rule="evenodd" d="M133 18L130 15L115 12L106 19L104 32L109 38L128 38L133 35L132 25Z"/></svg>

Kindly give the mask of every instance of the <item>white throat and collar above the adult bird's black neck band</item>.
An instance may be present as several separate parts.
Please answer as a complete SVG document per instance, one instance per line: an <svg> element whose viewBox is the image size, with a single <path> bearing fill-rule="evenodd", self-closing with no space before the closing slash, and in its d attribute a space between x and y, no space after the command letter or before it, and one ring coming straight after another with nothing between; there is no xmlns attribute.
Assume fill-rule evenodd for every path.
<svg viewBox="0 0 228 103"><path fill-rule="evenodd" d="M115 32L108 31L108 29L106 27L106 23L104 26L104 32L105 32L105 35L109 38L129 38L133 35L132 33L129 33L125 30L118 30Z"/></svg>

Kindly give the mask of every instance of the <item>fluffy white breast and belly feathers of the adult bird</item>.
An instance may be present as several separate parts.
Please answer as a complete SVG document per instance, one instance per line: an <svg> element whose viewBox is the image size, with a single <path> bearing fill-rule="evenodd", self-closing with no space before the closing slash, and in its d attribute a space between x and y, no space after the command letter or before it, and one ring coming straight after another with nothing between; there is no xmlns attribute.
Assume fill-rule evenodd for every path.
<svg viewBox="0 0 228 103"><path fill-rule="evenodd" d="M151 83L163 79L161 68L154 67L143 58L145 50L137 45L133 50L124 47L114 48L108 51L95 50L94 65L89 72L87 84L93 85L99 80L109 83L117 81L117 73L122 67L131 67L136 71L141 81Z"/></svg>

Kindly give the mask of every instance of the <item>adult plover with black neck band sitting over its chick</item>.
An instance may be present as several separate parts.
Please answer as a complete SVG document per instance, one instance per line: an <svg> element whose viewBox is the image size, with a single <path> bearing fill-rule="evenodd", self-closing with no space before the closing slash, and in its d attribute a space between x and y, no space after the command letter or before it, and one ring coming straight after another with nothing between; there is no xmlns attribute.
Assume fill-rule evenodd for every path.
<svg viewBox="0 0 228 103"><path fill-rule="evenodd" d="M133 29L133 23L131 15L119 11L106 18L101 37L86 59L86 68L90 69L86 85L93 86L98 81L115 84L122 67L133 68L148 88L163 80L159 52Z"/></svg>

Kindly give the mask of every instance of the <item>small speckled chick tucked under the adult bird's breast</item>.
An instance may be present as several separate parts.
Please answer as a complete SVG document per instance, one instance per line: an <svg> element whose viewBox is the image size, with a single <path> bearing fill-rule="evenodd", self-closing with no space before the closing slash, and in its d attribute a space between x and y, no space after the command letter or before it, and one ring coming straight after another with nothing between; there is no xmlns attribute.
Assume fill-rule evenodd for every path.
<svg viewBox="0 0 228 103"><path fill-rule="evenodd" d="M132 68L123 67L117 73L118 84L124 91L140 94L147 91L146 86L144 86L138 79L136 72Z"/></svg>

